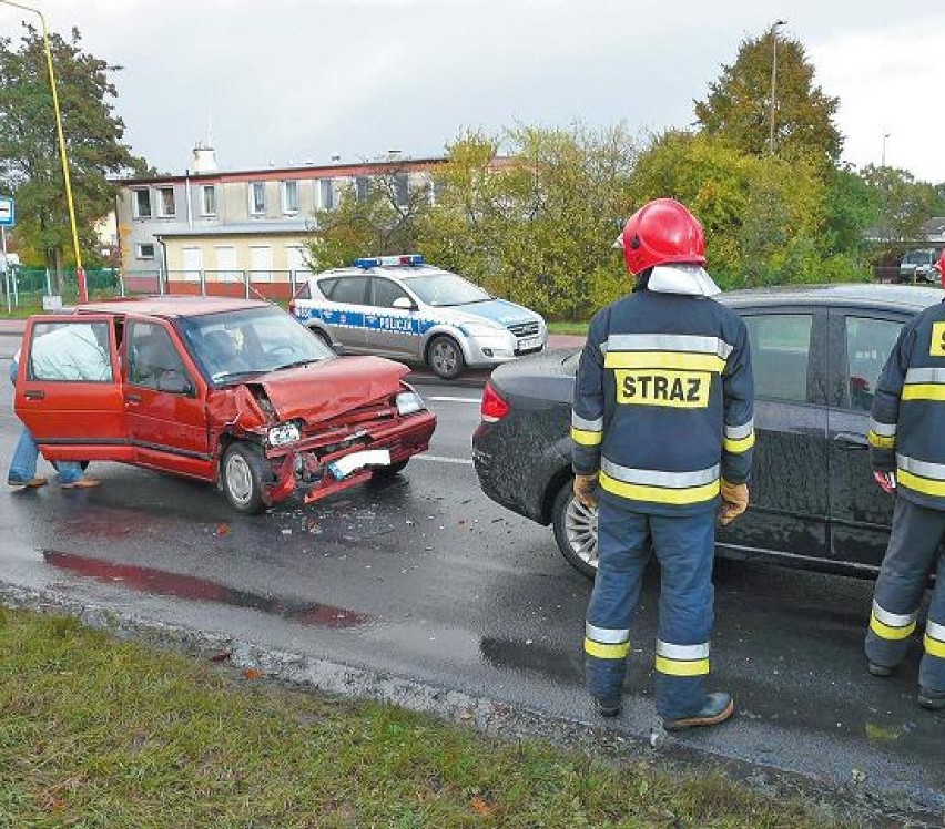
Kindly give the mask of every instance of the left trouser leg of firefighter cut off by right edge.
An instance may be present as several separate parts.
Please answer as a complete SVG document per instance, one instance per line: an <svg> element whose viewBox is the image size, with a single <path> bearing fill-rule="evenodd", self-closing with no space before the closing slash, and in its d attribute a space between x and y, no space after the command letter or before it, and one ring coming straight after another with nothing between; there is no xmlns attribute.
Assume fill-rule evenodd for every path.
<svg viewBox="0 0 945 829"><path fill-rule="evenodd" d="M891 674L905 657L943 524L945 513L896 498L865 642L870 672L875 676Z"/></svg>

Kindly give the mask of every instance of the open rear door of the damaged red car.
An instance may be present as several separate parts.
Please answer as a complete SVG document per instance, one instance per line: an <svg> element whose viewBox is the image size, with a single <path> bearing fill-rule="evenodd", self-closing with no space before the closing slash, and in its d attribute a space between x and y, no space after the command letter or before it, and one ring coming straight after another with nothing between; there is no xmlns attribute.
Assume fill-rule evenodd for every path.
<svg viewBox="0 0 945 829"><path fill-rule="evenodd" d="M13 408L48 460L130 461L113 318L30 317Z"/></svg>

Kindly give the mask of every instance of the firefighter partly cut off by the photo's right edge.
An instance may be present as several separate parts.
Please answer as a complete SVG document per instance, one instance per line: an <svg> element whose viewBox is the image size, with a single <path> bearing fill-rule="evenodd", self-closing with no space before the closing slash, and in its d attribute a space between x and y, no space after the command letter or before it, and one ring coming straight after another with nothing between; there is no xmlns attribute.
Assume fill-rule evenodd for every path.
<svg viewBox="0 0 945 829"><path fill-rule="evenodd" d="M945 250L935 265L945 286ZM900 332L873 398L870 454L877 483L895 494L893 531L873 594L866 659L891 676L905 657L928 576L936 573L918 669L918 704L945 708L945 304Z"/></svg>

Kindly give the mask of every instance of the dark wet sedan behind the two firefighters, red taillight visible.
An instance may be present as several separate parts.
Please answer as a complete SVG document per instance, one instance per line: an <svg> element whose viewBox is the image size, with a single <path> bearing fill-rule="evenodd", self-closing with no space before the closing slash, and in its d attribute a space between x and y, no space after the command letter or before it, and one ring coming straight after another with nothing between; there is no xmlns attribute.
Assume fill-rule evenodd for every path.
<svg viewBox="0 0 945 829"><path fill-rule="evenodd" d="M735 557L875 575L893 499L874 482L866 433L876 379L932 288L836 285L719 297L744 319L755 380L749 511L719 530ZM578 354L497 368L482 393L472 457L484 492L552 524L565 557L597 570L597 513L572 495L570 416Z"/></svg>

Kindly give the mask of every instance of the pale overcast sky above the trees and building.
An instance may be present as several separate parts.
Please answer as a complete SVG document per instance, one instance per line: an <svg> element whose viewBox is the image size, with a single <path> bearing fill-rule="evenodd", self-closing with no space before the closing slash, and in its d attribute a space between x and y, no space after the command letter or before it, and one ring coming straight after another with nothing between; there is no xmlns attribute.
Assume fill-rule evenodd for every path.
<svg viewBox="0 0 945 829"><path fill-rule="evenodd" d="M467 127L693 121L693 99L775 20L840 98L844 160L945 181L935 0L27 0L124 66L133 151L182 173L212 141L246 170L443 155ZM0 6L0 31L23 13Z"/></svg>

